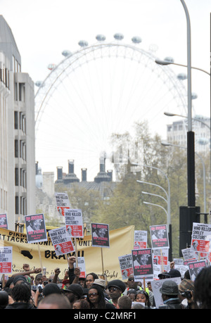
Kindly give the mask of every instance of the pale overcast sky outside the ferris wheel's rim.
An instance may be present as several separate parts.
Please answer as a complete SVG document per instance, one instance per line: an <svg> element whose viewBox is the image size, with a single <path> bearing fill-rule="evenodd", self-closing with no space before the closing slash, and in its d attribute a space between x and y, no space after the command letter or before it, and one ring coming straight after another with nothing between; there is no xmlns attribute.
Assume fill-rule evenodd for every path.
<svg viewBox="0 0 211 323"><path fill-rule="evenodd" d="M211 1L186 0L186 6L192 65L210 72ZM34 82L46 78L49 63L60 63L63 50L76 51L81 39L94 44L96 34L112 41L121 32L129 44L139 36L143 49L158 46L158 58L172 56L175 63L187 63L186 15L180 0L0 0L0 8L20 51L22 72ZM210 117L209 76L193 71L192 91L198 94L196 114Z"/></svg>

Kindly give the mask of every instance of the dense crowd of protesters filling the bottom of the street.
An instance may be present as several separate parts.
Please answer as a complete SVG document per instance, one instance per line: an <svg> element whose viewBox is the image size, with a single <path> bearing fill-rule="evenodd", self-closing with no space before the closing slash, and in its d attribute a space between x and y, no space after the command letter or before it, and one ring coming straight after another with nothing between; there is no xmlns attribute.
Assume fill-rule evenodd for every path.
<svg viewBox="0 0 211 323"><path fill-rule="evenodd" d="M181 277L171 265L170 272L162 272L160 293L163 304L156 307L151 289L134 280L130 274L127 281L98 277L91 272L80 278L74 267L75 257L68 258L68 271L60 277L60 270L46 277L41 268L30 270L23 265L23 272L13 274L0 291L1 309L80 309L80 310L129 310L129 309L211 309L211 267L204 267L191 281L188 271L178 285L173 277Z"/></svg>

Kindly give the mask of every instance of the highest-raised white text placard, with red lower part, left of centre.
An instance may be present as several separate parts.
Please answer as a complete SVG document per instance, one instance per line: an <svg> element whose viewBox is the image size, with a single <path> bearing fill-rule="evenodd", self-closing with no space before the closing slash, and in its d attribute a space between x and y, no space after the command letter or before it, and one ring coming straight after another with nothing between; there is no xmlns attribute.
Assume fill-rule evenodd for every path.
<svg viewBox="0 0 211 323"><path fill-rule="evenodd" d="M82 210L65 210L65 228L68 236L77 238L84 237Z"/></svg>

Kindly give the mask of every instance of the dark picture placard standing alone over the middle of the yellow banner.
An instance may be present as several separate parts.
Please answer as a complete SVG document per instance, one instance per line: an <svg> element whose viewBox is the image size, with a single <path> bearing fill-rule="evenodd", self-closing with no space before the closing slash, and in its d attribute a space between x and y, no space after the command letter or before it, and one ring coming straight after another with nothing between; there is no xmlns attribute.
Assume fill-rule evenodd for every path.
<svg viewBox="0 0 211 323"><path fill-rule="evenodd" d="M110 248L108 224L91 223L91 241L93 247Z"/></svg>

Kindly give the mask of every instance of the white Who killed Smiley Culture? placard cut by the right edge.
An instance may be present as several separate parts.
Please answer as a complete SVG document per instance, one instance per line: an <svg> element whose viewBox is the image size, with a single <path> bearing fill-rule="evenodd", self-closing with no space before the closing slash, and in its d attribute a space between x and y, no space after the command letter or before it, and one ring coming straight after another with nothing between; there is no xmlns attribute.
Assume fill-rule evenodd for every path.
<svg viewBox="0 0 211 323"><path fill-rule="evenodd" d="M211 251L211 224L193 222L191 250L200 253Z"/></svg>

